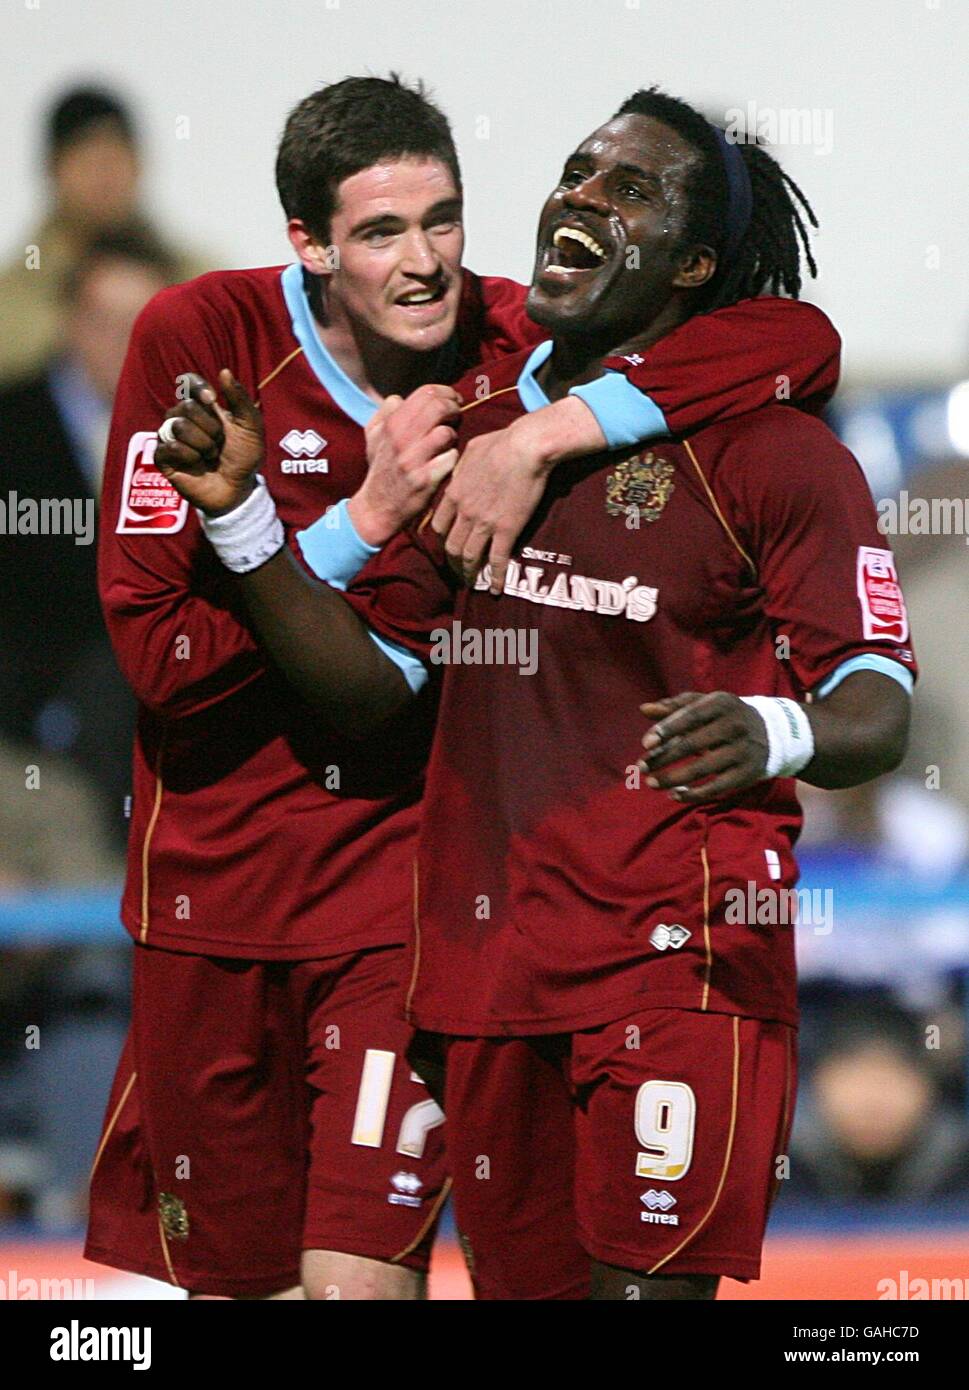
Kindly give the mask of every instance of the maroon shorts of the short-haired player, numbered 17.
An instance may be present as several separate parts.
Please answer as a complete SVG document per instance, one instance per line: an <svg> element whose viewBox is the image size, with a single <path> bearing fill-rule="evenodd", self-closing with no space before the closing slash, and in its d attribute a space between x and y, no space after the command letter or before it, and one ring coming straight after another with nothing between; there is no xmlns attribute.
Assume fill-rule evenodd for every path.
<svg viewBox="0 0 969 1390"><path fill-rule="evenodd" d="M405 1061L402 955L135 947L88 1258L235 1297L299 1284L303 1250L427 1269L443 1130Z"/></svg>

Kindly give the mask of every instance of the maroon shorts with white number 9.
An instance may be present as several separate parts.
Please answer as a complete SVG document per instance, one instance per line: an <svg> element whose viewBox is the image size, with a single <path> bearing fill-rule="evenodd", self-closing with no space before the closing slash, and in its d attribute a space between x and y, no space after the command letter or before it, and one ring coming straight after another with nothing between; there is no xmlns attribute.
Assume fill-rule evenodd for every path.
<svg viewBox="0 0 969 1390"><path fill-rule="evenodd" d="M589 1258L756 1279L794 1090L794 1030L726 1013L448 1040L455 1215L478 1297L583 1298Z"/></svg>

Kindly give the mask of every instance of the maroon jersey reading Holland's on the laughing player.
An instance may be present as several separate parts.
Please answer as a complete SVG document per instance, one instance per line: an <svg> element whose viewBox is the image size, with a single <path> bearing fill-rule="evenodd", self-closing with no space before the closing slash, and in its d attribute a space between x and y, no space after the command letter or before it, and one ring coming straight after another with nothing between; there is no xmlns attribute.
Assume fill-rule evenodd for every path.
<svg viewBox="0 0 969 1390"><path fill-rule="evenodd" d="M523 361L491 370L467 435L521 413ZM552 1033L644 1006L795 1022L781 899L788 924L726 910L728 890L747 902L794 885L795 784L709 806L640 785L640 705L715 689L804 699L869 652L913 667L876 521L827 427L767 406L556 468L498 598L487 574L455 592L427 524L374 557L348 598L443 666L413 1023Z"/></svg>

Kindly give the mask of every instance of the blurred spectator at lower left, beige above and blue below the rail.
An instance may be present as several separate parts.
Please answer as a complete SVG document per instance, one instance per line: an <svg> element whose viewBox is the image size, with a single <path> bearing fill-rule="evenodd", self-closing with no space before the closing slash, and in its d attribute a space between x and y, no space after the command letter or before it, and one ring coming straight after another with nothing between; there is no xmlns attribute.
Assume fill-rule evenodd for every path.
<svg viewBox="0 0 969 1390"><path fill-rule="evenodd" d="M57 755L0 742L0 905L121 870L86 780ZM124 1042L128 955L121 931L117 945L0 948L0 1226L81 1219ZM28 1027L40 1030L31 1049Z"/></svg>

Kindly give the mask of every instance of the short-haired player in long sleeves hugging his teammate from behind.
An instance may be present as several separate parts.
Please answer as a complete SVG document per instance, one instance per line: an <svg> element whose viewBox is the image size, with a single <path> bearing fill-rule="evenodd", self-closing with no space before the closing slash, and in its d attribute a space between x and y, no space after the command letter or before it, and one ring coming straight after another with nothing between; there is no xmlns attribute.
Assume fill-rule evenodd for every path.
<svg viewBox="0 0 969 1390"><path fill-rule="evenodd" d="M316 93L288 122L277 175L299 264L207 275L153 300L108 446L101 595L140 699L122 903L136 949L86 1252L196 1295L409 1298L445 1194L442 1116L405 1061L395 1008L428 710L407 709L366 744L346 737L339 702L321 726L158 471L211 455L204 406L186 402L161 443L158 427L190 368L228 367L234 392L259 395L291 543L329 507L335 537L355 517L375 545L453 459L457 398L425 386L399 404L399 393L539 334L520 286L460 267L457 158L420 92L349 79ZM804 309L795 324L791 307L709 316L692 346L671 345L669 371L662 353L616 361L609 400L620 371L655 382L671 418L751 409L785 368L795 389L823 392L837 342L823 316ZM788 334L801 342L779 356ZM701 407L705 349L724 371ZM366 473L364 427L384 396L371 428L389 463ZM637 398L630 421L628 399L620 436L659 414ZM516 457L544 480L563 452L606 441L589 404L589 393L557 403L541 439L521 421L527 442L519 432L510 450L521 441ZM409 450L393 434L405 424ZM210 510L215 481L199 480Z"/></svg>

